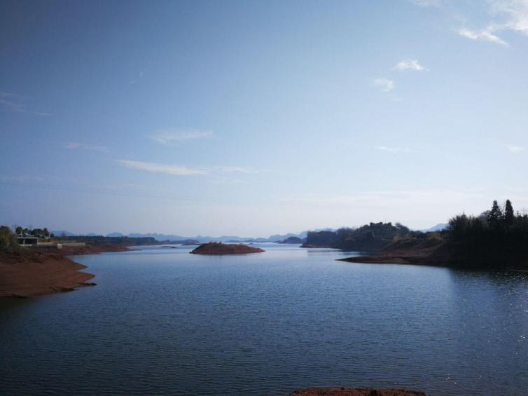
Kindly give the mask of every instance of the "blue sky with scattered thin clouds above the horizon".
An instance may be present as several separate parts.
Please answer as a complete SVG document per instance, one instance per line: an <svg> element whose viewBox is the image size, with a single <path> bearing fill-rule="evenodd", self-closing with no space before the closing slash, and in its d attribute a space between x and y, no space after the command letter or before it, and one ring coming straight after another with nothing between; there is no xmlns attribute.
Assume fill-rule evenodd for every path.
<svg viewBox="0 0 528 396"><path fill-rule="evenodd" d="M528 208L528 0L0 0L0 223L267 236Z"/></svg>

